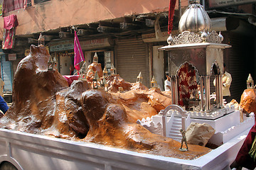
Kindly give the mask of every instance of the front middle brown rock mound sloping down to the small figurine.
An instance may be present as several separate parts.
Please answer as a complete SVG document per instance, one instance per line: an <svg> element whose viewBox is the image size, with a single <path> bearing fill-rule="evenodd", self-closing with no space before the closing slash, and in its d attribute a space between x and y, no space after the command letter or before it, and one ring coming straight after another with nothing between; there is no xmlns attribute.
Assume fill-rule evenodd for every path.
<svg viewBox="0 0 256 170"><path fill-rule="evenodd" d="M189 145L188 152L179 151L180 142L155 135L136 123L129 123L125 109L111 101L112 97L104 91L90 90L82 94L82 107L90 125L83 140L181 159L194 159L210 151L196 145Z"/></svg>

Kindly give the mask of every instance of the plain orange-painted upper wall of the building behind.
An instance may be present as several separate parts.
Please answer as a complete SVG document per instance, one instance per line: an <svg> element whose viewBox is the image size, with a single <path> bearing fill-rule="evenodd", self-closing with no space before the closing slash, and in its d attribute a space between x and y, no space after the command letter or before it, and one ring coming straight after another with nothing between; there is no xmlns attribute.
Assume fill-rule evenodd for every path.
<svg viewBox="0 0 256 170"><path fill-rule="evenodd" d="M186 6L183 2L182 6ZM16 35L40 33L61 27L93 23L112 18L120 18L138 13L168 11L169 1L106 1L106 0L51 0L5 13L4 16L16 14L18 27ZM178 8L178 3L176 4ZM0 38L3 37L3 18L0 18Z"/></svg>

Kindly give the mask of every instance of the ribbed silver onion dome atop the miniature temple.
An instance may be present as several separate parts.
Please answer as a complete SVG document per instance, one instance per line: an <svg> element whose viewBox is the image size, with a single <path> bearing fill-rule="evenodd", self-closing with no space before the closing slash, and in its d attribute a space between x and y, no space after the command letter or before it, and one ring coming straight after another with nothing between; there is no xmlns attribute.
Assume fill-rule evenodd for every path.
<svg viewBox="0 0 256 170"><path fill-rule="evenodd" d="M210 27L210 18L203 6L198 3L198 0L191 0L190 5L186 8L178 23L180 33L185 30L193 33L203 33L203 30L206 30L206 33L208 33L210 32Z"/></svg>

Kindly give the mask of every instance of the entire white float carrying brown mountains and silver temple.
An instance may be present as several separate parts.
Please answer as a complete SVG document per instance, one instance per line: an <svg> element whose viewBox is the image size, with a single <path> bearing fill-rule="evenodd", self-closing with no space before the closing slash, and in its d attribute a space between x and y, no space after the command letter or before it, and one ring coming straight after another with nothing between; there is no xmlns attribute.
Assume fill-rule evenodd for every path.
<svg viewBox="0 0 256 170"><path fill-rule="evenodd" d="M198 16L188 20L191 10L198 11ZM83 64L79 79L69 85L54 68L46 48L32 45L14 76L13 104L0 119L1 165L14 169L228 169L255 120L254 115L246 117L233 104L223 103L223 50L230 46L221 44L220 33L210 32L209 22L203 7L192 1L179 24L181 34L170 36L169 45L159 49L169 53L170 92L160 91L154 77L148 89L141 74L136 83L129 83L116 74L114 66L110 73L102 71L97 55L88 67ZM196 23L200 25L196 30L186 28ZM181 82L184 72L184 79L193 78L189 82L194 83L198 74L201 99L188 80ZM211 101L213 72L217 83ZM200 132L213 134L206 142L188 142L182 149L184 131L196 123L208 125ZM205 147L206 143L217 148Z"/></svg>

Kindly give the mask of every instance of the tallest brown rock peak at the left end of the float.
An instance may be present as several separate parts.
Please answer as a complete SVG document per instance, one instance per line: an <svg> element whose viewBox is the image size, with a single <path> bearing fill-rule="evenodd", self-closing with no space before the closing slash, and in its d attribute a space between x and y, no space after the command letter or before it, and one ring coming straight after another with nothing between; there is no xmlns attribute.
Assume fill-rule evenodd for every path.
<svg viewBox="0 0 256 170"><path fill-rule="evenodd" d="M41 128L41 120L48 120L53 111L53 95L68 87L57 71L48 71L49 57L45 47L32 45L30 54L18 64L13 105L1 118L1 127L34 132Z"/></svg>

